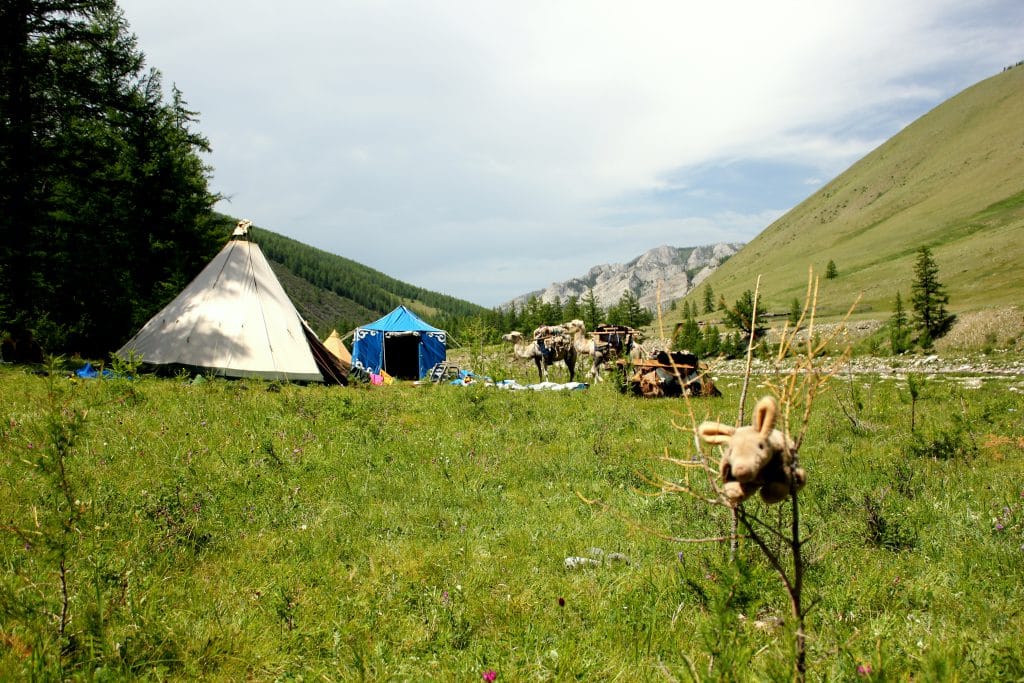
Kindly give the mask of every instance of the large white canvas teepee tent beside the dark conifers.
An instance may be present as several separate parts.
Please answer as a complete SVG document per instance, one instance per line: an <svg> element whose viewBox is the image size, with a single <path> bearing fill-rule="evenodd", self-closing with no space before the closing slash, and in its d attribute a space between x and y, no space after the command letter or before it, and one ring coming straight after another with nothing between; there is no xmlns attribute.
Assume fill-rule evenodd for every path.
<svg viewBox="0 0 1024 683"><path fill-rule="evenodd" d="M223 377L344 383L344 371L248 241L249 225L240 221L220 253L117 354Z"/></svg>

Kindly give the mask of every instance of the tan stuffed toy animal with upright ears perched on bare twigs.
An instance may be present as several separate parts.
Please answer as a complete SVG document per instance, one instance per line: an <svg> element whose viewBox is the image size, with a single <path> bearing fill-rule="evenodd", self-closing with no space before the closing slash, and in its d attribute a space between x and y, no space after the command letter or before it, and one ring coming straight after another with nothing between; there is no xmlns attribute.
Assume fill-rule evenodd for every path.
<svg viewBox="0 0 1024 683"><path fill-rule="evenodd" d="M794 485L799 490L807 483L803 468L794 467L796 443L774 428L777 413L775 399L765 396L754 409L752 425L702 422L697 427L705 441L725 446L719 471L729 505L739 505L759 492L761 500L771 505L785 500Z"/></svg>

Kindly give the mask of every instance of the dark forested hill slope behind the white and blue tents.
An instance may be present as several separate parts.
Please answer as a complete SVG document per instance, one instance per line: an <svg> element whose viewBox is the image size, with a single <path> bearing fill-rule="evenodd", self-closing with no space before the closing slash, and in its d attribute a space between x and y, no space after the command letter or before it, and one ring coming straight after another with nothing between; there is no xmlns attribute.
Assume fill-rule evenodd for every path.
<svg viewBox="0 0 1024 683"><path fill-rule="evenodd" d="M251 236L296 308L322 337L332 329L344 333L375 321L399 304L445 329L484 310L264 228L253 227Z"/></svg>

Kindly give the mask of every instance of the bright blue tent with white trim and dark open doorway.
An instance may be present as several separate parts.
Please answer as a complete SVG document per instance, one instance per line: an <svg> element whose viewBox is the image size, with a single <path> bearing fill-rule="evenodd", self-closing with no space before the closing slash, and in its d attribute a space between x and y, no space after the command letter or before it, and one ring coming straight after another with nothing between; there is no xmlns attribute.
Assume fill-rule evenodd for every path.
<svg viewBox="0 0 1024 683"><path fill-rule="evenodd" d="M384 317L356 328L352 367L402 380L422 379L445 357L447 333L398 306Z"/></svg>

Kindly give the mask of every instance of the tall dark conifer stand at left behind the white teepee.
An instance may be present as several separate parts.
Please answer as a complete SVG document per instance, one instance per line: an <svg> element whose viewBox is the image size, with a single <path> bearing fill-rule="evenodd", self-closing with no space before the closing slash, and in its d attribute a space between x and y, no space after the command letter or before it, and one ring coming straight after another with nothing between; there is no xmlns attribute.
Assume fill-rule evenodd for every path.
<svg viewBox="0 0 1024 683"><path fill-rule="evenodd" d="M228 234L114 0L0 3L0 333L105 356Z"/></svg>

